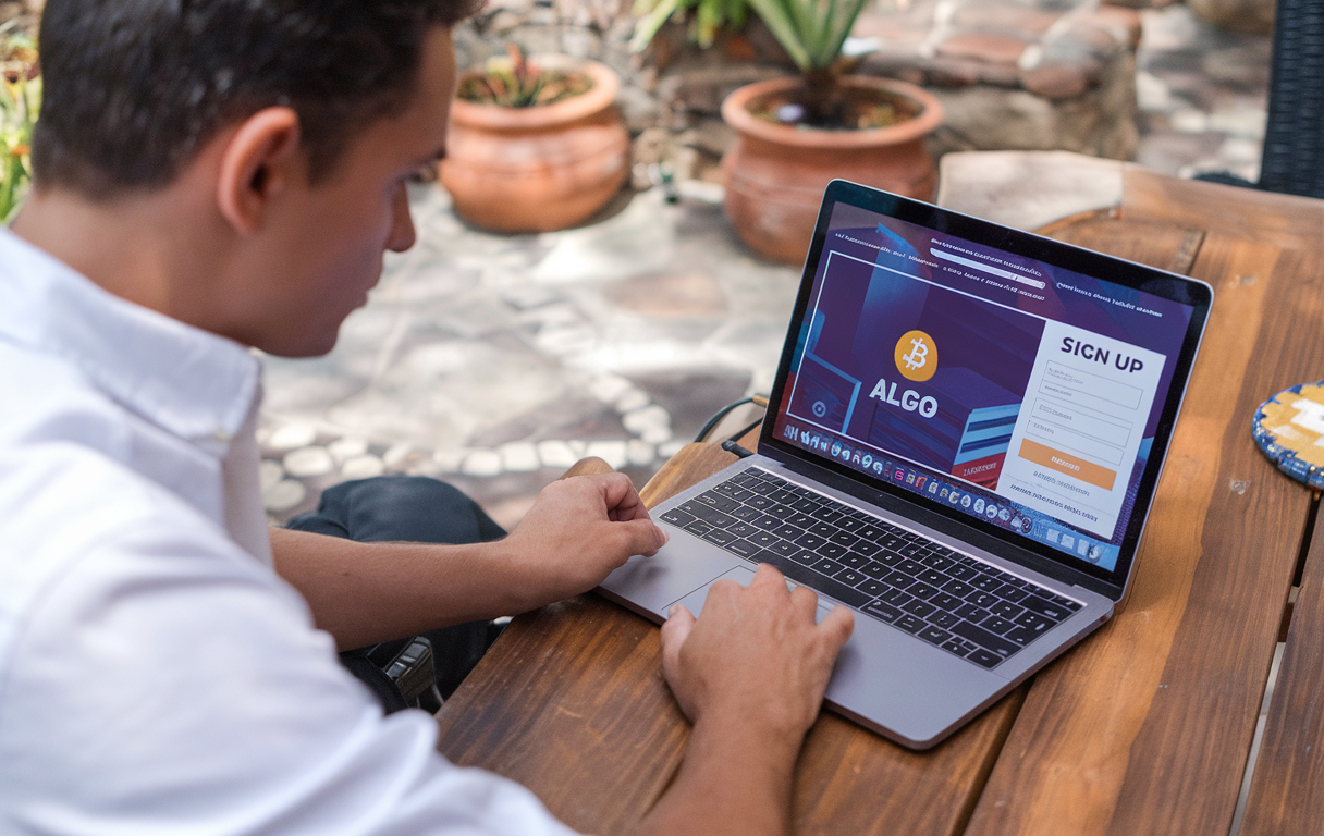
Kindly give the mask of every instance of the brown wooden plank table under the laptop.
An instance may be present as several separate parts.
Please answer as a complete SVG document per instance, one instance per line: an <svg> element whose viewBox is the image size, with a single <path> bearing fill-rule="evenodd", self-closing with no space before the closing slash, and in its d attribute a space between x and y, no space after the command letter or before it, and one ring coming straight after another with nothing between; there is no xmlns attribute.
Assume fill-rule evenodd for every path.
<svg viewBox="0 0 1324 836"><path fill-rule="evenodd" d="M1324 377L1324 201L1127 168L1120 206L1045 231L1217 292L1129 606L933 751L822 714L797 767L796 828L1227 833L1286 630L1242 833L1317 833L1324 530L1312 536L1317 497L1260 455L1250 422L1275 392ZM686 447L645 497L730 460ZM515 619L438 716L440 750L524 783L572 827L624 829L688 734L657 632L594 595Z"/></svg>

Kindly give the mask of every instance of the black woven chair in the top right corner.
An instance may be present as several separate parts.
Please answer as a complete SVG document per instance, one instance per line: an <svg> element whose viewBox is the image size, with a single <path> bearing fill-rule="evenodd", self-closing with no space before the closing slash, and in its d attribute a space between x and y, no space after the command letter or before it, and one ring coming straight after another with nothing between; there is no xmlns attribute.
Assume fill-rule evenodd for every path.
<svg viewBox="0 0 1324 836"><path fill-rule="evenodd" d="M1200 180L1324 197L1324 0L1278 0L1259 183L1225 172Z"/></svg>

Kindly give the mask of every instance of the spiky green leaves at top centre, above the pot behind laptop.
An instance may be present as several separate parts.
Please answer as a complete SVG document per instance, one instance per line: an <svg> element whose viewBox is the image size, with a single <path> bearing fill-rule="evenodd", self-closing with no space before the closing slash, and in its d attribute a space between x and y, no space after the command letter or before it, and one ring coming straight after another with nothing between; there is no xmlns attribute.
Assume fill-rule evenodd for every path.
<svg viewBox="0 0 1324 836"><path fill-rule="evenodd" d="M859 13L871 0L636 0L634 13L642 15L632 48L638 52L667 20L691 17L691 36L700 46L712 44L722 28L737 29L748 15L747 4L772 32L790 60L800 67L808 87L808 122L829 124L839 110L837 77L851 66L842 60L842 46L850 37ZM904 8L908 0L890 0Z"/></svg>

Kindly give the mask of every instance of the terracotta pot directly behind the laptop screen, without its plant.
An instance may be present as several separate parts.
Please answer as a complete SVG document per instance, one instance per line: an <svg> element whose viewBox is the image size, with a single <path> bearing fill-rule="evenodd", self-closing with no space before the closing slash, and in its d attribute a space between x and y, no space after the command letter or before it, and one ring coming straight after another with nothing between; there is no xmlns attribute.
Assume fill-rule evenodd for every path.
<svg viewBox="0 0 1324 836"><path fill-rule="evenodd" d="M727 217L755 253L786 265L804 262L831 180L920 200L933 200L937 188L937 168L924 148L924 135L943 120L943 106L933 95L900 81L843 77L838 83L902 99L918 111L904 122L861 131L804 130L749 112L751 102L801 83L798 78L763 81L740 87L722 103L722 118L736 131L736 142L722 159Z"/></svg>

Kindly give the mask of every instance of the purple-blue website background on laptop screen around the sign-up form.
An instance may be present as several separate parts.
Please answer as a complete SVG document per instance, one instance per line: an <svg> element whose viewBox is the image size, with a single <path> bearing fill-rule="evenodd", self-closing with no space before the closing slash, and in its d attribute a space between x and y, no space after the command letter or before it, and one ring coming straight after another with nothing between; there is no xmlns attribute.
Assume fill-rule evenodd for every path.
<svg viewBox="0 0 1324 836"><path fill-rule="evenodd" d="M1173 364L1165 362L1158 378L1111 540L994 493L1010 427L1026 398L1045 319L1172 358L1190 315L1168 299L838 204L775 431L1112 569ZM937 370L925 381L898 374L894 348L914 329L937 347ZM895 397L870 397L880 380L914 392L907 409L891 407ZM916 406L923 398L931 399Z"/></svg>

